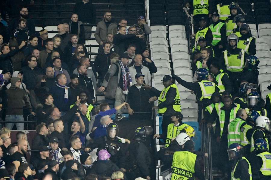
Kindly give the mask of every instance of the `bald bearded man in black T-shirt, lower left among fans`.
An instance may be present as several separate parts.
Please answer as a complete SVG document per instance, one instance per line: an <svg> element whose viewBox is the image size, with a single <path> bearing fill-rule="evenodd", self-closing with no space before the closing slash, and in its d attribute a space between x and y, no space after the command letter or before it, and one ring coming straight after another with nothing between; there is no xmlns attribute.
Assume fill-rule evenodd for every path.
<svg viewBox="0 0 271 180"><path fill-rule="evenodd" d="M18 151L11 155L11 162L15 164L16 169L20 164L27 163L24 155L27 153L28 143L25 139L18 140Z"/></svg>

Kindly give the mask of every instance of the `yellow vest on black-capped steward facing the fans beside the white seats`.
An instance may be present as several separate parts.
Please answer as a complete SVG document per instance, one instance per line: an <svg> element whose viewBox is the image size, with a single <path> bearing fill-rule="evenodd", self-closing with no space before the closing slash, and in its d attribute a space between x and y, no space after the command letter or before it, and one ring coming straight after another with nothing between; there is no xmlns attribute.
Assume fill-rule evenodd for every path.
<svg viewBox="0 0 271 180"><path fill-rule="evenodd" d="M172 88L175 88L176 89L176 97L174 99L174 102L173 102L173 109L177 112L181 112L181 104L180 104L180 94L179 94L179 89L178 87L176 86L176 84L172 84L170 86L168 86L167 88L164 88L163 91L161 92L159 98L158 98L158 105L161 103L161 102L164 102L166 101L166 96L167 96L167 91L169 90L169 88L172 87ZM164 108L159 108L158 109L158 113L165 113L167 111L167 107L164 107Z"/></svg>

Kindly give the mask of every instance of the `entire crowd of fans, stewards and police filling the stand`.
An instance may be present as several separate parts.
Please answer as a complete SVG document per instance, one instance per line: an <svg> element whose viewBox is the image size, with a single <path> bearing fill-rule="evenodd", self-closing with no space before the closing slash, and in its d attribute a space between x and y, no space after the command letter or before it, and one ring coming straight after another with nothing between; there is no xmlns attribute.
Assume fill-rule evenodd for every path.
<svg viewBox="0 0 271 180"><path fill-rule="evenodd" d="M195 151L195 130L182 122L177 82L202 105L199 123L212 130L213 164L224 178L270 179L271 93L266 102L259 93L256 41L237 3L214 4L184 3L194 8L198 27L193 82L173 72L161 79L162 91L151 86L157 67L147 48L145 16L128 27L126 19L114 22L105 11L91 62L83 26L95 22L91 1L76 3L70 22L59 24L52 39L46 29L35 31L26 4L5 6L1 13L9 11L10 19L0 22L0 180L150 180L155 160L171 168L171 179L205 179L207 155ZM163 116L161 134L153 132L152 110ZM29 115L36 121L27 124L36 130L32 142L22 131ZM16 141L12 130L18 130ZM155 138L165 144L158 152Z"/></svg>

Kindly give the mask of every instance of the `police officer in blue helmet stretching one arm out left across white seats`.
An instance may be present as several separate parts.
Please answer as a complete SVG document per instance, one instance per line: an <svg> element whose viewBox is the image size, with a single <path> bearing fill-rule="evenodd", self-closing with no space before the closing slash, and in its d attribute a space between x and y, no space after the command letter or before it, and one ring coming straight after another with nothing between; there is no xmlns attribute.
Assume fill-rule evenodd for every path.
<svg viewBox="0 0 271 180"><path fill-rule="evenodd" d="M184 86L195 92L198 99L204 104L204 106L208 106L211 104L211 96L214 92L219 92L219 88L214 82L208 81L208 70L205 68L199 68L196 70L196 79L198 82L187 82L182 80L180 77L175 74L172 76L180 85Z"/></svg>

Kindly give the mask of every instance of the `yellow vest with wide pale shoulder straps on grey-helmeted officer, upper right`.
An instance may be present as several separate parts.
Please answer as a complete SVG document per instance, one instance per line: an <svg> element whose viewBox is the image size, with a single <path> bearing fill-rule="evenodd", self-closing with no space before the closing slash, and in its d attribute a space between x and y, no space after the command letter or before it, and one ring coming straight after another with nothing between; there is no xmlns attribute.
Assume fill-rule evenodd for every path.
<svg viewBox="0 0 271 180"><path fill-rule="evenodd" d="M228 56L228 51L223 51L224 53L224 61L226 65L226 69L231 72L241 72L243 71L245 65L245 51L241 49L239 54L231 54Z"/></svg>

